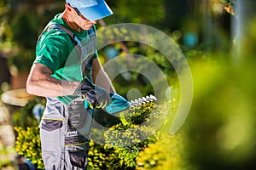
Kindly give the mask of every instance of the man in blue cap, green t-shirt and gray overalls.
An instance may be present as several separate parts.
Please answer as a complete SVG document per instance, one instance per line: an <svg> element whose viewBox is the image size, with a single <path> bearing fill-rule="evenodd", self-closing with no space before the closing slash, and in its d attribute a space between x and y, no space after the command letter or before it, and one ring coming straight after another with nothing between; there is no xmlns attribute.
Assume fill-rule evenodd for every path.
<svg viewBox="0 0 256 170"><path fill-rule="evenodd" d="M115 92L95 48L94 25L111 14L103 0L66 0L38 38L26 90L47 99L39 125L46 170L86 169L93 109Z"/></svg>

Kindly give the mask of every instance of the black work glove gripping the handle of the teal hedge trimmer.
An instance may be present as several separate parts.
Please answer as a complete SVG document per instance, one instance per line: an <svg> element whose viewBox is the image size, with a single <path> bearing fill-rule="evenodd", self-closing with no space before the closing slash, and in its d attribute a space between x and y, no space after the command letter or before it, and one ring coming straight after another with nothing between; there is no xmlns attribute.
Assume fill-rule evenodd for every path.
<svg viewBox="0 0 256 170"><path fill-rule="evenodd" d="M94 85L85 77L79 87L73 93L80 95L90 103L90 108L105 108L111 101L108 92L101 87Z"/></svg>

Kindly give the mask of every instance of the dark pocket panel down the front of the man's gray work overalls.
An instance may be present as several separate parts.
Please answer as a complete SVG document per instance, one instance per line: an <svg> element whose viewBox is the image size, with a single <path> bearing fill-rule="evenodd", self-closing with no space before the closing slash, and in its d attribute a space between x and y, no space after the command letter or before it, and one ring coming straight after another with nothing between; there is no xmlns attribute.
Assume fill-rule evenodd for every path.
<svg viewBox="0 0 256 170"><path fill-rule="evenodd" d="M73 101L67 106L67 134L65 146L69 161L74 167L84 168L87 164L89 139L85 133L90 132L91 116L84 108L84 101ZM88 122L89 121L89 122Z"/></svg>

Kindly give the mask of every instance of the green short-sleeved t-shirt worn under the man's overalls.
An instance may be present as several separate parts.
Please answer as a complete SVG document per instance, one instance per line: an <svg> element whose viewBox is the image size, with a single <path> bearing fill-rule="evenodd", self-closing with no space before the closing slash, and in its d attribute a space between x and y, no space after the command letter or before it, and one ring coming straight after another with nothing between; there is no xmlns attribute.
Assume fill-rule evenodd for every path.
<svg viewBox="0 0 256 170"><path fill-rule="evenodd" d="M49 21L49 24L46 27L54 24L64 26L73 32L83 46L90 44L91 37L88 31L74 31L67 25L61 16L62 14L55 15L55 18ZM92 27L92 31L96 31L95 26ZM91 50L94 53L92 58L95 59L97 57L95 44L94 48ZM65 31L52 29L42 33L38 39L36 59L34 63L47 66L53 71L51 76L58 80L81 82L84 78L81 71L79 53L76 50L71 37ZM58 99L68 105L77 97L78 96L59 96Z"/></svg>

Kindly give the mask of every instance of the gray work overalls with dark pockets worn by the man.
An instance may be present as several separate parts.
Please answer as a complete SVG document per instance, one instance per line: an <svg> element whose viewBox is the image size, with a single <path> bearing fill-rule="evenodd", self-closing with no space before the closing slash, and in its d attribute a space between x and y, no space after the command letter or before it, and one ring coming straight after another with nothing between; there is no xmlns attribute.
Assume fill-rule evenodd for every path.
<svg viewBox="0 0 256 170"><path fill-rule="evenodd" d="M70 35L70 32L67 33ZM83 63L81 67L86 67L88 63L91 76L91 61L87 61L85 65ZM74 99L69 105L64 105L57 98L46 99L44 116L39 125L45 169L86 169L93 110L85 108L81 98Z"/></svg>

